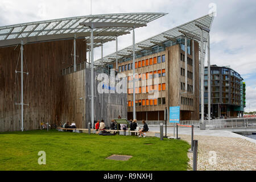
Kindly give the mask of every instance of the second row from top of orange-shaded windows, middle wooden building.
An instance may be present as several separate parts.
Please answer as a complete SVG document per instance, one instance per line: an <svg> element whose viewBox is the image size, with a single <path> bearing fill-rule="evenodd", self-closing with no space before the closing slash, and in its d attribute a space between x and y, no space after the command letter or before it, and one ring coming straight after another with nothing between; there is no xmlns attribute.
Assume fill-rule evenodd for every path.
<svg viewBox="0 0 256 182"><path fill-rule="evenodd" d="M153 75L154 74L154 75ZM157 77L164 77L166 76L166 69L158 70L158 71L152 71L147 73L141 73L141 74L135 74L135 81L141 81L141 80L148 80L152 78ZM128 76L128 82L133 81L133 76Z"/></svg>

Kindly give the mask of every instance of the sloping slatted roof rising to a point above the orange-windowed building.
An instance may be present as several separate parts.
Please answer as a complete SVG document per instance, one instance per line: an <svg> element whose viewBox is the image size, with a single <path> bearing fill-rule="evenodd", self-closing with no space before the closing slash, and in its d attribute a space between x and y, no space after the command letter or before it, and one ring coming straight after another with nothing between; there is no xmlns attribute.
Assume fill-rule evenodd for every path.
<svg viewBox="0 0 256 182"><path fill-rule="evenodd" d="M197 42L200 42L201 29L197 27L196 24L199 24L200 26L210 30L213 22L213 17L214 17L213 14L210 14L210 15L207 14L205 16L202 16L201 18L197 18L195 20L192 20L191 22L181 24L180 26L171 28L170 30L164 31L158 35L152 36L151 38L148 38L139 43L136 43L135 52L140 52L143 49L150 49L152 46L156 46L156 45L161 46L163 45L164 42L168 40L175 42L177 37L184 35L183 33L189 36L193 36L193 38L195 38ZM205 51L205 46L207 45L207 39L208 39L208 33L206 31L203 31L203 37L204 37L204 51ZM199 44L199 47L200 47L200 44ZM119 50L118 59L122 59L122 57L125 57L125 56L130 56L131 50L133 50L132 45ZM111 63L113 62L113 58L115 58L115 56L116 56L115 52L108 56L105 56L103 58L103 62ZM100 63L101 63L101 59L98 59L95 62L95 64L100 64Z"/></svg>

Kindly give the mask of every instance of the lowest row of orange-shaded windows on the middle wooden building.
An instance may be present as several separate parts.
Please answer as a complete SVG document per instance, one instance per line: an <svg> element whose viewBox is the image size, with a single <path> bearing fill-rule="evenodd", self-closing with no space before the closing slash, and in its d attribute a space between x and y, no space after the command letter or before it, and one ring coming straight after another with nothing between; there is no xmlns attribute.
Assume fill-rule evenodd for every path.
<svg viewBox="0 0 256 182"><path fill-rule="evenodd" d="M135 101L135 106L153 106L166 104L166 98L144 99ZM133 107L133 101L128 101L128 107Z"/></svg>

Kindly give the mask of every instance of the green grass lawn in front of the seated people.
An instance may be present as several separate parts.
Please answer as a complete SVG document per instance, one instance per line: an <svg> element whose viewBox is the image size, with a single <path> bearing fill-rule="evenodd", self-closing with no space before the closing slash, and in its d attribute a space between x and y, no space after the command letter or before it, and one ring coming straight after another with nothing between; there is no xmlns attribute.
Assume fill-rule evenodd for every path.
<svg viewBox="0 0 256 182"><path fill-rule="evenodd" d="M152 144L152 145L147 145ZM102 136L52 131L0 133L0 170L187 170L189 144L155 137ZM46 152L46 165L38 152ZM127 161L105 159L131 155Z"/></svg>

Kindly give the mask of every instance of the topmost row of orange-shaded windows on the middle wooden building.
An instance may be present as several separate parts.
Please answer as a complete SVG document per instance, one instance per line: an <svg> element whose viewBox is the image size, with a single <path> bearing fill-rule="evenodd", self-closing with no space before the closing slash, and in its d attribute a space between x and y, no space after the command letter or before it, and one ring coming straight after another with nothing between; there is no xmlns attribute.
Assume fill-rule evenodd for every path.
<svg viewBox="0 0 256 182"><path fill-rule="evenodd" d="M166 62L166 55L152 57L150 59L135 62L135 69L147 67L148 65L164 63L164 62ZM118 67L118 72L129 71L131 69L133 69L133 63Z"/></svg>

